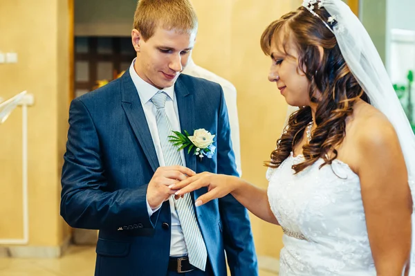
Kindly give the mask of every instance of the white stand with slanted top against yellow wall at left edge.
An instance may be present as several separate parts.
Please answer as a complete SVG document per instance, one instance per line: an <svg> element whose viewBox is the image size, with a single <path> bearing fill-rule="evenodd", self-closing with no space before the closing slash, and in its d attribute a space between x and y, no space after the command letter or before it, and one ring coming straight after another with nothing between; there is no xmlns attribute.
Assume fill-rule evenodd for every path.
<svg viewBox="0 0 415 276"><path fill-rule="evenodd" d="M28 205L28 106L35 102L32 94L23 91L0 104L0 125L5 122L17 107L21 106L22 120L22 192L23 192L23 239L0 239L0 244L27 244L29 242Z"/></svg>

